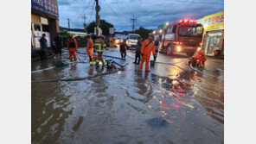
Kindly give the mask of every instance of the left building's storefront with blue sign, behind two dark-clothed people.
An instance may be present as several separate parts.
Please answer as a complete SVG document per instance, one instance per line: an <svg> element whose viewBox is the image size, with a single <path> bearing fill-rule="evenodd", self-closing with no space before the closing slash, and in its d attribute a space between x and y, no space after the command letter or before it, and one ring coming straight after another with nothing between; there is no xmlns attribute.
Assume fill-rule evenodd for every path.
<svg viewBox="0 0 256 144"><path fill-rule="evenodd" d="M31 0L31 48L40 49L40 38L46 34L48 47L60 32L57 0Z"/></svg>

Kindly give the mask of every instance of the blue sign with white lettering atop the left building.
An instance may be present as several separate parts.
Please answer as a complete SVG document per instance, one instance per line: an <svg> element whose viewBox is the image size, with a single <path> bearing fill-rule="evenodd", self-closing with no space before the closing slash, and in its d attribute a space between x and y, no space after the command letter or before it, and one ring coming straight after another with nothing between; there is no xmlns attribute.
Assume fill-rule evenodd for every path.
<svg viewBox="0 0 256 144"><path fill-rule="evenodd" d="M31 8L52 16L59 16L57 0L31 0Z"/></svg>

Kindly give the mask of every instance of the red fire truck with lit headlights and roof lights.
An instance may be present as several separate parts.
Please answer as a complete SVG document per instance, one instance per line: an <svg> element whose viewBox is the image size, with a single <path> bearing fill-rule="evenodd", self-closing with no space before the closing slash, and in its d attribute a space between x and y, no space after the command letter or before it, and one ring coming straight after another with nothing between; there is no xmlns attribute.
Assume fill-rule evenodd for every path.
<svg viewBox="0 0 256 144"><path fill-rule="evenodd" d="M184 19L178 22L166 23L163 32L155 33L161 35L162 46L160 52L171 55L173 53L186 53L192 56L202 47L202 24L194 20ZM161 32L161 33L160 33Z"/></svg>

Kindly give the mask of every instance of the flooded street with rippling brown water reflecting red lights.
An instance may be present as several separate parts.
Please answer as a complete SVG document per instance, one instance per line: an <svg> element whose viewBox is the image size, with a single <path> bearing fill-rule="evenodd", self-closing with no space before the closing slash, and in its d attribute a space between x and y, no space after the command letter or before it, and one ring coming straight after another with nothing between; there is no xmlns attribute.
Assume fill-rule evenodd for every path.
<svg viewBox="0 0 256 144"><path fill-rule="evenodd" d="M105 54L120 57L117 51L110 48ZM131 51L127 54L135 55ZM68 61L67 54L63 57L62 61ZM87 57L80 55L79 59ZM32 143L224 143L223 59L208 58L204 73L195 72L187 62L156 64L150 66L151 72L141 73L132 64L134 59L126 59L129 64L125 69L112 74L32 83ZM157 57L162 62L183 59L187 57L163 53ZM60 62L37 61L31 69ZM31 78L81 78L109 71L72 63L32 73Z"/></svg>

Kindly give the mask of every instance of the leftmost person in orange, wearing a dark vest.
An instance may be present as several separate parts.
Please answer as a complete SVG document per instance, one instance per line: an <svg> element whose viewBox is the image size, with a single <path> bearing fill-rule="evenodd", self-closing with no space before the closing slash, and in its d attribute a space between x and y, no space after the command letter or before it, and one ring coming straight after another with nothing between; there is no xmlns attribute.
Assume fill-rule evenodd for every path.
<svg viewBox="0 0 256 144"><path fill-rule="evenodd" d="M76 61L76 50L77 50L77 42L74 39L72 34L69 34L69 40L67 41L67 49L69 51L69 59L70 61L73 61L73 57L74 57L74 61Z"/></svg>

